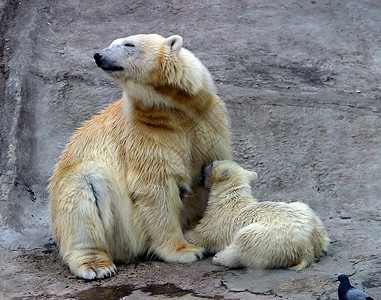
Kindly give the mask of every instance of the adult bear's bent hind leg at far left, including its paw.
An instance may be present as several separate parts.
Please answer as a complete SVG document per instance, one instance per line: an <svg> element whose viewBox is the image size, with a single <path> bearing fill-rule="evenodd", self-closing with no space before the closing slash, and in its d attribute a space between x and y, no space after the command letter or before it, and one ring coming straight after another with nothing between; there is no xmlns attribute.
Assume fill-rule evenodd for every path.
<svg viewBox="0 0 381 300"><path fill-rule="evenodd" d="M71 272L87 280L114 275L107 243L114 193L107 172L82 163L56 172L50 189L53 235Z"/></svg>

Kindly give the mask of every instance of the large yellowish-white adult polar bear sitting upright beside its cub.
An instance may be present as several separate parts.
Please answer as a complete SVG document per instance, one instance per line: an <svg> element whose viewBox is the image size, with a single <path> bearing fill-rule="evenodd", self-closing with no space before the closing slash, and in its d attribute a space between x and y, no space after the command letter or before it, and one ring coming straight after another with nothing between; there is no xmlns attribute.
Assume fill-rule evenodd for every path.
<svg viewBox="0 0 381 300"><path fill-rule="evenodd" d="M123 99L75 133L49 185L54 239L78 277L111 276L113 261L144 254L178 263L203 255L182 228L206 205L202 166L231 158L229 121L209 72L182 44L135 35L94 55Z"/></svg>

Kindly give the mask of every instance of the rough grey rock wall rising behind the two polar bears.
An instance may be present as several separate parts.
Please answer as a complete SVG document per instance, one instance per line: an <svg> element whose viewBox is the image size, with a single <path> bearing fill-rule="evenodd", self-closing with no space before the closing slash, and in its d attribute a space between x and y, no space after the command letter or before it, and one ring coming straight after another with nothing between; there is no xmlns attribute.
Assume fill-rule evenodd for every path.
<svg viewBox="0 0 381 300"><path fill-rule="evenodd" d="M235 157L259 173L258 198L303 200L325 218L380 208L376 2L36 0L1 9L1 246L49 242L54 164L75 128L121 96L93 53L136 33L180 34L210 69Z"/></svg>

